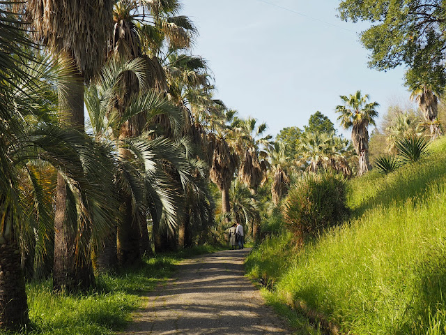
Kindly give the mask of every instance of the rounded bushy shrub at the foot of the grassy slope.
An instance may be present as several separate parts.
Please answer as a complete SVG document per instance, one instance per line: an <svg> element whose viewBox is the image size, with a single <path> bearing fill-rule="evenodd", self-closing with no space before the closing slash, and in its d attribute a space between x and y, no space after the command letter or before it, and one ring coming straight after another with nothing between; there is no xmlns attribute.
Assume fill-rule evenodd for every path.
<svg viewBox="0 0 446 335"><path fill-rule="evenodd" d="M302 244L348 214L346 182L339 174L308 174L291 189L282 212L287 227Z"/></svg>

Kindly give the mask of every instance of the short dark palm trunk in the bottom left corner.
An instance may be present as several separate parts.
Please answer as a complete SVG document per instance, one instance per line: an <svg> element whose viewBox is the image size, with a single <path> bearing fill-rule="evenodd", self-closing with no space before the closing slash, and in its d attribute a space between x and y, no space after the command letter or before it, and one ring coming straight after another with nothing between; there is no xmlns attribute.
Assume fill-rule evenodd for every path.
<svg viewBox="0 0 446 335"><path fill-rule="evenodd" d="M0 240L0 329L19 329L29 322L20 251L14 241Z"/></svg>

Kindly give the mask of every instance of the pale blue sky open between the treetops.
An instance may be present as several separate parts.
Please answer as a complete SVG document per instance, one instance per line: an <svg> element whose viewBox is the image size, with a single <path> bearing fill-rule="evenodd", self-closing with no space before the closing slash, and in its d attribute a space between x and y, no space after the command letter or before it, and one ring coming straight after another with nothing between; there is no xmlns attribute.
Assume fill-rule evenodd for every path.
<svg viewBox="0 0 446 335"><path fill-rule="evenodd" d="M276 135L303 128L317 110L337 124L339 95L360 89L380 103L405 104L403 68L367 67L357 32L366 24L339 20L339 1L183 0L183 14L199 29L193 54L208 60L216 97L240 116L266 121Z"/></svg>

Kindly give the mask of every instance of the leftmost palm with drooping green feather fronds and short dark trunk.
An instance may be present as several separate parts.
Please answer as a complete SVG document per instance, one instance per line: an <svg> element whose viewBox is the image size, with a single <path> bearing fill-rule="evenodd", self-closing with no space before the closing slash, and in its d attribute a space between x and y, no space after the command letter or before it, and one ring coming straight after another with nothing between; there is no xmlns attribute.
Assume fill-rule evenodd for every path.
<svg viewBox="0 0 446 335"><path fill-rule="evenodd" d="M0 8L1 19L2 15ZM8 24L3 24L3 29L8 29ZM2 33L5 32L3 29ZM8 35L0 38L10 38L10 45L15 45L21 53L17 42L31 43L17 36L18 31L10 29ZM51 217L51 205L45 202L43 189L47 179L39 171L39 165L58 170L69 186L68 213L75 216L79 230L85 232L73 234L73 253L79 262L88 260L90 237L98 237L100 227L106 227L114 216L112 209L104 207L108 204L113 207L114 202L109 197L112 192L104 184L112 173L106 159L107 151L96 146L84 133L56 124L57 87L54 84L61 83L59 77L63 75L63 66L54 66L50 57L34 59L30 55L23 64L11 56L13 53L6 53L3 44L0 52L5 60L0 66L0 114L3 120L0 131L5 134L0 138L0 327L8 329L28 321L18 249L19 243L22 248L26 244L26 231L30 229L26 216L33 217L38 238L48 239L45 223ZM84 228L88 218L93 219L95 227ZM45 257L45 243L38 244L38 248L36 258Z"/></svg>

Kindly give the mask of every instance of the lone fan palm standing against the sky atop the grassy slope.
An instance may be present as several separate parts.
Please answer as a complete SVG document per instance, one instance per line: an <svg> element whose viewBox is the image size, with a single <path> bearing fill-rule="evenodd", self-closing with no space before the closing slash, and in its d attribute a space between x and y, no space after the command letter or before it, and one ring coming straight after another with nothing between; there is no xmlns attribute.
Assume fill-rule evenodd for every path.
<svg viewBox="0 0 446 335"><path fill-rule="evenodd" d="M351 139L357 156L359 157L358 175L362 175L371 169L369 163L369 124L375 125L375 118L378 117L376 107L378 103L367 103L369 95L361 95L361 91L356 91L354 95L339 96L344 101L344 105L338 105L336 112L341 114L338 120L344 129L352 128Z"/></svg>

